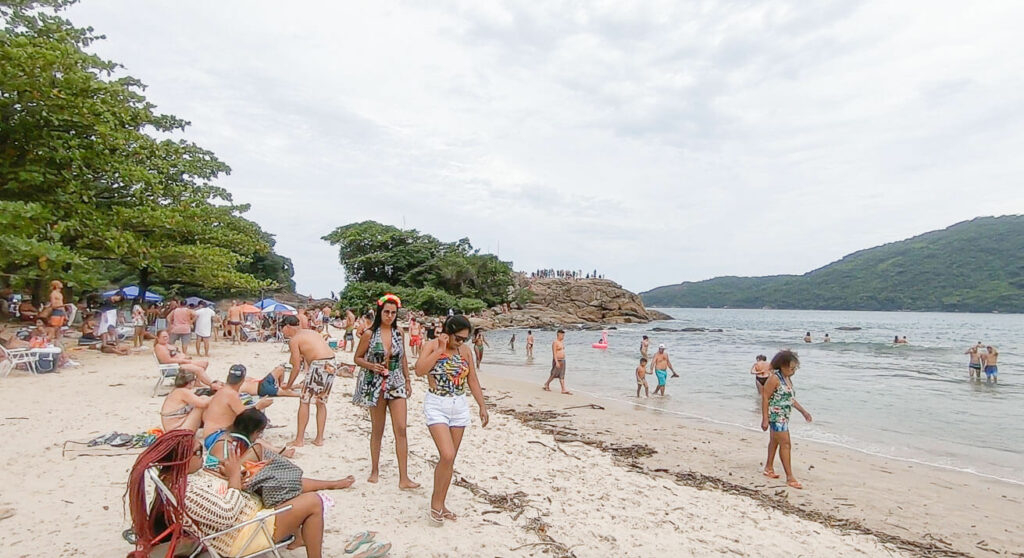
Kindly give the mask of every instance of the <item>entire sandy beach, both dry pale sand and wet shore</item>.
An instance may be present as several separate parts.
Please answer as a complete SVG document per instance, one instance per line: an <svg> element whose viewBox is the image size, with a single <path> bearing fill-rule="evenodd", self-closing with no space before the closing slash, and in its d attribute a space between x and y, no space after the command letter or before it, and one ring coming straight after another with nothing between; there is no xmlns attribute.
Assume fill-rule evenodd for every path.
<svg viewBox="0 0 1024 558"><path fill-rule="evenodd" d="M221 378L231 363L241 362L251 376L262 376L287 358L281 347L215 343L210 372ZM138 450L86 455L121 452L77 446L63 453L62 446L66 440L86 441L112 430L136 433L158 426L162 399L150 396L156 360L151 350L126 357L95 351L72 351L72 356L82 366L38 377L14 372L0 379L0 439L5 444L0 459L4 486L0 508L14 512L0 520L3 556L108 557L124 556L131 550L121 539L121 531L129 526L122 496ZM339 356L351 361L349 353ZM830 505L839 506L837 513L848 512L853 518L885 509L874 518L887 526L883 530L912 539L922 532L922 524L915 521L926 521L914 519L915 513L931 517L943 507L959 507L966 513L971 506L980 506L973 536L961 533L967 531L966 525L956 529L953 522L958 516L945 521L944 529L928 532L972 554L979 553L974 544L982 540L995 550L1021 548L1015 533L1001 533L1006 522L1019 517L1019 491L1007 490L1002 495L1007 498L1000 499L989 493L996 487L976 478L956 479L933 471L914 474L897 464L889 465L892 479L880 485L872 469L857 469L848 456L830 449L818 453L798 443L795 455L808 486L798 493L783 488L781 482L760 480L761 435L737 436L692 425L679 428L676 419L664 420L649 410L612 409L601 401L597 402L604 411L567 412L573 415L568 424L587 436L612 443L646 443L658 452L651 458L623 460L592 445L556 442L550 433L511 415L587 404L591 400L586 396L550 394L539 386L490 374L481 380L496 409L490 424L481 429L471 404L474 426L468 429L456 462L460 482L450 490L447 503L460 519L441 527L427 520L431 460L436 449L422 418L425 381L416 381L409 412L410 471L423 487L402 491L397 487L389 431L382 452L381 482L366 482L369 419L349 402L353 380L337 380L329 402L326 444L308 444L314 429L310 421L307 445L295 458L309 477L352 474L356 478L353 487L330 492L337 506L326 521L326 556L343 556L351 534L364 529L379 531L379 540L391 542L392 556L410 557L904 555L868 534L828 527L748 496L698 489L674 476L652 472L702 467L732 482L771 493L781 490L801 507L833 509L827 503L836 499ZM297 404L294 398L279 398L267 410L275 427L267 431L269 441L285 443L294 437ZM644 425L642 435L637 429L640 424ZM815 468L803 472L811 464ZM905 511L895 511L898 506ZM991 521L983 519L987 514ZM931 523L923 525L931 528ZM304 552L286 555L304 556Z"/></svg>

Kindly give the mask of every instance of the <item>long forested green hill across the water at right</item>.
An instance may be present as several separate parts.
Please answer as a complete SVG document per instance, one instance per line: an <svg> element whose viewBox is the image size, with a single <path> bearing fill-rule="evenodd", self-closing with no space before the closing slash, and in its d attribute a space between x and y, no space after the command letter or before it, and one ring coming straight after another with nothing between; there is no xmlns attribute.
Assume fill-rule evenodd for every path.
<svg viewBox="0 0 1024 558"><path fill-rule="evenodd" d="M956 223L803 275L715 277L640 296L654 307L1024 312L1024 215Z"/></svg>

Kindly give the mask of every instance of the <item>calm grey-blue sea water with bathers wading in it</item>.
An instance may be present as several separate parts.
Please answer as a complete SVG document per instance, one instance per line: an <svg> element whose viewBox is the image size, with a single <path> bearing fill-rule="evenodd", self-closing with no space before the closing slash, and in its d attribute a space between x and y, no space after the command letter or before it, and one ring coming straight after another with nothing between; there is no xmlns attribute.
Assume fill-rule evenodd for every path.
<svg viewBox="0 0 1024 558"><path fill-rule="evenodd" d="M674 319L609 330L605 350L591 347L600 332L568 332L569 389L637 402L633 371L646 334L651 353L664 343L682 377L670 378L665 398L641 395L642 404L760 431L751 366L759 353L770 359L775 351L790 348L801 360L794 376L797 397L814 419L806 423L795 411L795 438L1024 484L1024 315L659 309ZM814 343L803 342L807 331ZM513 332L514 351L508 347ZM831 343L820 342L825 333ZM543 383L555 334L534 335L535 357L528 361L525 330L490 332L484 370L488 361L518 366L519 379ZM896 335L906 336L909 344L894 345ZM978 341L999 351L998 385L968 381L964 351ZM648 383L653 389L656 380L650 377Z"/></svg>

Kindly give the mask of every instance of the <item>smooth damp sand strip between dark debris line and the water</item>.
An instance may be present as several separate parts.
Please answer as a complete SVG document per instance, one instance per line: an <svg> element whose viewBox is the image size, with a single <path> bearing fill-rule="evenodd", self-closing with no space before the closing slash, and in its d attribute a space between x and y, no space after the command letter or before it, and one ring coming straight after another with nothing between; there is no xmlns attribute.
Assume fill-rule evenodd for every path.
<svg viewBox="0 0 1024 558"><path fill-rule="evenodd" d="M1024 542L1016 519L1024 509L1021 484L795 437L794 469L805 489L788 489L784 480L760 474L767 446L767 435L760 431L642 402L546 392L540 385L515 379L521 370L525 367L484 361L481 382L508 395L516 406L565 413L567 424L581 433L610 437L613 443L652 446L657 453L640 461L649 472L722 479L947 555L979 550L1019 553L1016 549ZM571 375L567 387L572 390ZM581 403L604 409L565 409ZM651 426L651 421L658 424ZM697 450L701 446L706 449ZM863 476L865 472L868 476Z"/></svg>

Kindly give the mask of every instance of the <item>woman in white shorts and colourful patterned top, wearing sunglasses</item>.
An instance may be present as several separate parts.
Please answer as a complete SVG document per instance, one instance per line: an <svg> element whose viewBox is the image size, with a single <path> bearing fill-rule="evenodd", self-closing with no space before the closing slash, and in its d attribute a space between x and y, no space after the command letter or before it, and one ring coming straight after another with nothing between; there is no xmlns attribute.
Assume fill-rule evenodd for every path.
<svg viewBox="0 0 1024 558"><path fill-rule="evenodd" d="M437 525L445 519L457 519L456 514L444 506L444 499L452 484L455 457L470 422L467 387L480 409L481 426L487 426L487 407L483 403L480 381L476 378L473 353L466 346L471 328L464 315L449 317L442 333L423 347L416 361L416 375L429 375L430 382L430 391L423 399L423 414L439 454L434 467L434 491L430 496L430 520Z"/></svg>

